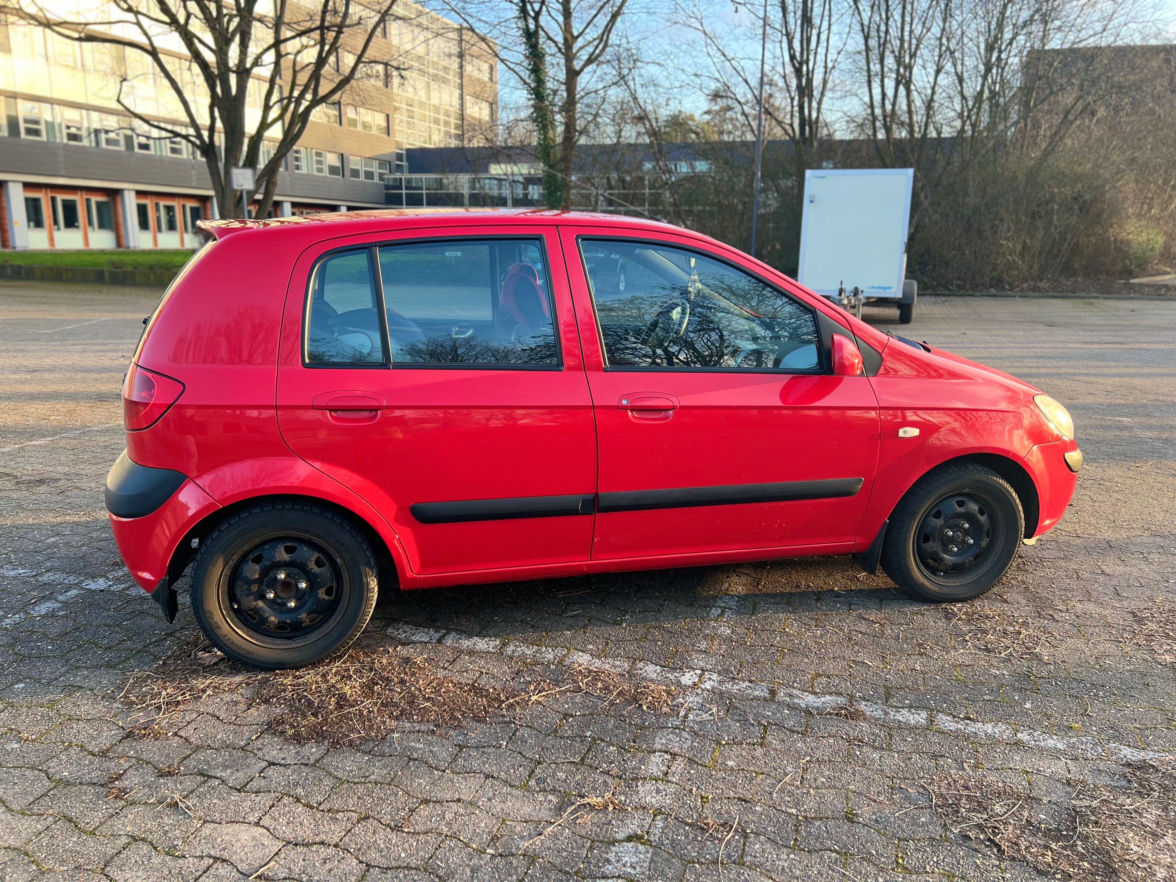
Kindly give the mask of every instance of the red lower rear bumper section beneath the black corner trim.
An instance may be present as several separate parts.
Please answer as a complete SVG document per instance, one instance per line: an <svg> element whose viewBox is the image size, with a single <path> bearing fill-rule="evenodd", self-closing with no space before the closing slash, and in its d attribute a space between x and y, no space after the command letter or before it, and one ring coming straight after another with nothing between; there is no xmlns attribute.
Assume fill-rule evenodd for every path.
<svg viewBox="0 0 1176 882"><path fill-rule="evenodd" d="M156 469L161 470L161 469ZM206 515L220 508L195 482L183 479L171 497L141 517L111 513L119 554L134 580L148 592L160 584L176 546Z"/></svg>

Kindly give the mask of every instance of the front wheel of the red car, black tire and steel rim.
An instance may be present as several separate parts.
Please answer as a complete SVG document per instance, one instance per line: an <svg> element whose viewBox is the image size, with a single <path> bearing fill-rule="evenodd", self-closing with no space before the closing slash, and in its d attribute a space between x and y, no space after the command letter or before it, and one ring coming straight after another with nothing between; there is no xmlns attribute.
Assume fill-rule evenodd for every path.
<svg viewBox="0 0 1176 882"><path fill-rule="evenodd" d="M1000 581L1023 535L1021 500L1008 481L974 462L941 466L895 506L881 564L927 600L971 600Z"/></svg>

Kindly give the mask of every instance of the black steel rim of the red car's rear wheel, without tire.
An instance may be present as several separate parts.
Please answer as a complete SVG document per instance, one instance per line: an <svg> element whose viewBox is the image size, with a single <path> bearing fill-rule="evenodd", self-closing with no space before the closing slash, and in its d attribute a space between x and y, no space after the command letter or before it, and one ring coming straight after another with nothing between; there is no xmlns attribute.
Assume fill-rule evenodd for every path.
<svg viewBox="0 0 1176 882"><path fill-rule="evenodd" d="M276 539L246 554L233 574L233 612L270 637L307 634L339 607L339 574L313 542Z"/></svg>

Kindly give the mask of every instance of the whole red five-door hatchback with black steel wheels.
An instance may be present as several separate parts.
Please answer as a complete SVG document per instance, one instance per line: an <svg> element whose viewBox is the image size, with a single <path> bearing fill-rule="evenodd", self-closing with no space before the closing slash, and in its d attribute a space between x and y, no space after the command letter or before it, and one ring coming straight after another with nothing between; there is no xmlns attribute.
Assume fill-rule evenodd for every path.
<svg viewBox="0 0 1176 882"><path fill-rule="evenodd" d="M208 639L258 667L346 647L377 586L853 553L967 600L1082 463L1038 389L686 229L203 226L127 373L106 502L168 621L191 564Z"/></svg>

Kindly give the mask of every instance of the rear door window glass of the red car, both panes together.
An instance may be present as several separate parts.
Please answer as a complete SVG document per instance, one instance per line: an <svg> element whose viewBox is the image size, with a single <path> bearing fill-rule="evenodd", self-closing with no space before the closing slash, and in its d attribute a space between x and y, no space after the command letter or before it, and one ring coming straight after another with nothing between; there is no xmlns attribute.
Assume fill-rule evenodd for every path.
<svg viewBox="0 0 1176 882"><path fill-rule="evenodd" d="M559 366L540 240L389 245L376 253L375 268L368 248L319 263L308 363L387 365L387 352L393 367Z"/></svg>

